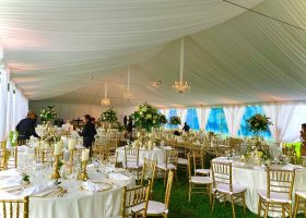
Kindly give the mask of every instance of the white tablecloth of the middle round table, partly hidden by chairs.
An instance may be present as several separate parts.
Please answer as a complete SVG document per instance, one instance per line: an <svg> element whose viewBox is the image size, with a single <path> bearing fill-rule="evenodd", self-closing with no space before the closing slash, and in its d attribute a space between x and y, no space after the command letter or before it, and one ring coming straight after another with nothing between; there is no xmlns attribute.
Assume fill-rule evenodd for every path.
<svg viewBox="0 0 306 218"><path fill-rule="evenodd" d="M153 149L139 149L139 164L142 165L144 162L144 158L150 160L156 160L158 164L165 161L165 150L170 149L170 147L154 147ZM125 147L118 147L118 161L121 161L125 165Z"/></svg>

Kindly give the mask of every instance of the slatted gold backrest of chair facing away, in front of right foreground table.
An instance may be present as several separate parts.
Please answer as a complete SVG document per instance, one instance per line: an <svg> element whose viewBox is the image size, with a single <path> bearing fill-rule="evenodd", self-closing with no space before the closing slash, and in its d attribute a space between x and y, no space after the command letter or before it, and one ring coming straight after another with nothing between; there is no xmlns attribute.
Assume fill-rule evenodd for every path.
<svg viewBox="0 0 306 218"><path fill-rule="evenodd" d="M278 193L292 199L294 180L295 170L267 168L267 197L270 198L272 193Z"/></svg>

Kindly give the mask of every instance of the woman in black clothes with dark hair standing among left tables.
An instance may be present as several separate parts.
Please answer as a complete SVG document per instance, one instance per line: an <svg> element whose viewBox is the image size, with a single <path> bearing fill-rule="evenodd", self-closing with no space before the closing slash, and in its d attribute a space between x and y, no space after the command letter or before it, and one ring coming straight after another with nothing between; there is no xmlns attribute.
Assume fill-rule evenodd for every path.
<svg viewBox="0 0 306 218"><path fill-rule="evenodd" d="M92 150L93 142L95 141L96 129L92 123L92 117L90 114L85 114L83 117L84 126L82 132L79 132L81 136L83 136L83 145L84 147Z"/></svg>

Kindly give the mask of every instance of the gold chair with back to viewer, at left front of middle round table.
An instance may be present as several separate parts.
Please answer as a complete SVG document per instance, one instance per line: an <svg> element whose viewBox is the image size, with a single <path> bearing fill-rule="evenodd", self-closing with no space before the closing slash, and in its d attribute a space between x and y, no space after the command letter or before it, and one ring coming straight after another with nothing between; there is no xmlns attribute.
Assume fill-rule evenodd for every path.
<svg viewBox="0 0 306 218"><path fill-rule="evenodd" d="M125 166L126 169L137 172L137 180L139 180L139 173L142 165L139 162L139 147L131 148L125 147Z"/></svg>

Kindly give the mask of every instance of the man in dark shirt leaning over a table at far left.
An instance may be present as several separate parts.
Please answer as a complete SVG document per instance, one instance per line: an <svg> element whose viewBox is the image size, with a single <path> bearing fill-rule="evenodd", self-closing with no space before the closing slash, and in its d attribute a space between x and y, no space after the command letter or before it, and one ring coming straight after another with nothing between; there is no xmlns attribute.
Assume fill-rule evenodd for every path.
<svg viewBox="0 0 306 218"><path fill-rule="evenodd" d="M30 136L39 137L35 132L37 116L34 111L27 112L27 118L21 120L16 125L19 132L19 141L30 140Z"/></svg>

